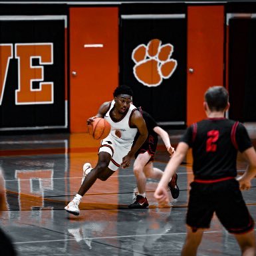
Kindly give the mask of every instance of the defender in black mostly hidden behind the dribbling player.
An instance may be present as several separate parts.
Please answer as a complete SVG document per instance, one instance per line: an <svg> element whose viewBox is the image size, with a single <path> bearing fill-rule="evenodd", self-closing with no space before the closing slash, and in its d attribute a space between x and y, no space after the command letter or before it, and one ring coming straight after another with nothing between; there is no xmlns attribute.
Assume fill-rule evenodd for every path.
<svg viewBox="0 0 256 256"><path fill-rule="evenodd" d="M134 162L134 175L136 177L138 193L135 194L136 197L134 198L134 203L129 205L129 208L133 209L148 207L148 199L146 198L146 179L154 178L160 180L160 178L162 178L163 171L153 166L156 146L158 145L158 135L160 135L164 141L169 154L172 156L175 152L170 143L168 133L156 124L156 121L150 114L148 114L148 112L143 111L141 107L138 107L138 110L140 110L140 113L146 122L148 138L134 155L136 158ZM136 134L134 143L136 142L138 135L139 134ZM174 199L178 198L180 190L177 186L177 174L175 174L172 180L168 183L168 189L172 193Z"/></svg>

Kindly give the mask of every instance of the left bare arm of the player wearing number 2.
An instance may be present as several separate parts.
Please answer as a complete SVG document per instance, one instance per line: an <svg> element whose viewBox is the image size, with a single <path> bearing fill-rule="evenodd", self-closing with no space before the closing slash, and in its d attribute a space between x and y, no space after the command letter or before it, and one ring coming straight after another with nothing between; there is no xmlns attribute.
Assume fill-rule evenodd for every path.
<svg viewBox="0 0 256 256"><path fill-rule="evenodd" d="M158 200L158 203L160 205L168 203L169 201L168 192L166 191L166 186L168 182L170 182L170 179L172 178L172 176L174 176L182 160L185 158L188 152L188 148L189 148L188 144L184 142L180 142L176 149L176 153L170 159L170 161L166 166L166 169L164 170L164 174L158 184L158 187L156 188L156 192L154 193L154 197Z"/></svg>

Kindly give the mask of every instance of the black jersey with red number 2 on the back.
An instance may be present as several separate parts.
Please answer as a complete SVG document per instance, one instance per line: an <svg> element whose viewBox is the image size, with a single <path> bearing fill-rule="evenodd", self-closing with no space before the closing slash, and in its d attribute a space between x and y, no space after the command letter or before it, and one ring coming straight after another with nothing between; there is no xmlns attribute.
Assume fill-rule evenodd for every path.
<svg viewBox="0 0 256 256"><path fill-rule="evenodd" d="M193 174L201 180L237 176L237 151L252 146L245 126L226 118L192 124L180 141L192 148Z"/></svg>

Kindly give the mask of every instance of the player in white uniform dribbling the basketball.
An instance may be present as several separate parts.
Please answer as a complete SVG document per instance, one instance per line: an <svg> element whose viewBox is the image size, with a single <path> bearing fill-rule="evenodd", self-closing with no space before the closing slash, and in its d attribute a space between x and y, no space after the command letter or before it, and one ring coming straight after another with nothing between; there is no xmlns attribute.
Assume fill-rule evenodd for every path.
<svg viewBox="0 0 256 256"><path fill-rule="evenodd" d="M98 163L92 168L89 163L83 166L82 185L74 199L64 207L68 213L79 215L79 203L82 196L97 179L107 180L119 167L128 168L134 154L142 146L148 136L148 130L142 114L131 104L132 89L119 86L114 90L114 100L104 102L96 116L105 118L110 126L110 134L101 141L98 150ZM95 117L87 120L90 124ZM134 137L140 136L133 145Z"/></svg>

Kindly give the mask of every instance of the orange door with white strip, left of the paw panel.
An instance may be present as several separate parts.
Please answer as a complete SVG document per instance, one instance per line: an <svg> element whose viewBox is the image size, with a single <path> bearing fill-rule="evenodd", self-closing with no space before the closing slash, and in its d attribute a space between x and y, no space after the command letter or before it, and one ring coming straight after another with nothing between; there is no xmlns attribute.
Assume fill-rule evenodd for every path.
<svg viewBox="0 0 256 256"><path fill-rule="evenodd" d="M75 73L74 73L75 72ZM70 132L112 100L118 86L118 8L70 8Z"/></svg>

